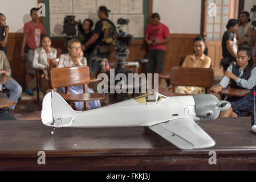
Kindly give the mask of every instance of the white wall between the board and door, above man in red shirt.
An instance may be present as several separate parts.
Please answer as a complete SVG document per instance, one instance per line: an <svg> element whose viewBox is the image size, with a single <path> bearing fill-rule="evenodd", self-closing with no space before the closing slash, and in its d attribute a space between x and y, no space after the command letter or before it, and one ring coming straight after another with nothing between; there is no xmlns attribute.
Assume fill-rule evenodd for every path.
<svg viewBox="0 0 256 182"><path fill-rule="evenodd" d="M153 0L153 13L171 34L200 34L201 0Z"/></svg>

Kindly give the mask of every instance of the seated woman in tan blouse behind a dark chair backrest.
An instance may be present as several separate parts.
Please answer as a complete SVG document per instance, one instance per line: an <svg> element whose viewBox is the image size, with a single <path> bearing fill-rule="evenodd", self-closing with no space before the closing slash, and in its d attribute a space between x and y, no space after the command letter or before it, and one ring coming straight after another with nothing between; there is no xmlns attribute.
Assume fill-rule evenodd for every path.
<svg viewBox="0 0 256 182"><path fill-rule="evenodd" d="M205 39L198 36L194 39L194 53L186 56L182 67L210 68L211 59L205 55ZM180 94L205 94L205 88L198 86L176 86L175 93Z"/></svg>

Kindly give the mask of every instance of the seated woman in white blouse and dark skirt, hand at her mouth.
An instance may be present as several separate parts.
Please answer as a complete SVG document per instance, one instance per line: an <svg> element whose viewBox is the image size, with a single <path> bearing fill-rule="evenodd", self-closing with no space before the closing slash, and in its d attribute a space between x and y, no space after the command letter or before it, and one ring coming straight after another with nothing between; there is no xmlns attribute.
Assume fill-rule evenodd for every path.
<svg viewBox="0 0 256 182"><path fill-rule="evenodd" d="M43 73L44 76L46 76L48 75L47 60L55 59L57 57L57 50L51 47L51 39L46 34L42 34L40 36L40 43L42 47L35 49L32 67L42 69L41 75ZM48 81L42 78L40 80L40 85L42 87L43 94L46 94L46 90L49 88Z"/></svg>

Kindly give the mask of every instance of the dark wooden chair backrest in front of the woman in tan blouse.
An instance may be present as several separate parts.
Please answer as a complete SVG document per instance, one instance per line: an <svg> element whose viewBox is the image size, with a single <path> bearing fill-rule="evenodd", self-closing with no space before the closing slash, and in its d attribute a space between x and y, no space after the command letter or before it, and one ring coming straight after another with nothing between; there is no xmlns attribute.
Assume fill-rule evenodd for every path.
<svg viewBox="0 0 256 182"><path fill-rule="evenodd" d="M213 69L173 67L170 70L170 84L173 86L200 86L210 89L213 86Z"/></svg>

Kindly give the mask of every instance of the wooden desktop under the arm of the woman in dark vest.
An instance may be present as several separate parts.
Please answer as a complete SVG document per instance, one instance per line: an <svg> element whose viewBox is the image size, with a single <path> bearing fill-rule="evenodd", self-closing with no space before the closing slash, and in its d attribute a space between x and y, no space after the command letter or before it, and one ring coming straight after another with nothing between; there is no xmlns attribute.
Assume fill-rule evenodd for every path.
<svg viewBox="0 0 256 182"><path fill-rule="evenodd" d="M214 85L210 91L214 92L214 88L216 88L218 85ZM234 97L244 97L250 94L250 90L246 89L234 89L231 88L230 86L227 86L227 88L223 89L221 92L218 94L224 95L224 96L234 96Z"/></svg>

